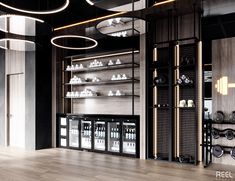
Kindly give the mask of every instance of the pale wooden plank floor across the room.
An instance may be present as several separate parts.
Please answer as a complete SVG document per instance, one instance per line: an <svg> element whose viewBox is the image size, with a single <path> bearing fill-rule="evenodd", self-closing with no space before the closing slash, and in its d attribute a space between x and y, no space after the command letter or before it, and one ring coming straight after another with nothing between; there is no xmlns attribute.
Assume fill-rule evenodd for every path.
<svg viewBox="0 0 235 181"><path fill-rule="evenodd" d="M224 165L204 169L76 150L0 148L0 181L213 181L216 170L235 178L235 167Z"/></svg>

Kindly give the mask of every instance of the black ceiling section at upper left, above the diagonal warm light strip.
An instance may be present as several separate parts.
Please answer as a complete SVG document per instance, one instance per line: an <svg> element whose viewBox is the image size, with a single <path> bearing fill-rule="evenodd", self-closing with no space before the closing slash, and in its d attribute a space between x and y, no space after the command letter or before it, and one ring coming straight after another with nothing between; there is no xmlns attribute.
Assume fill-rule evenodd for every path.
<svg viewBox="0 0 235 181"><path fill-rule="evenodd" d="M65 3L65 0L1 0L1 2L21 9L38 11L61 7ZM11 11L2 6L0 6L0 10L3 12L16 14L15 11ZM17 12L17 14L22 13ZM53 28L56 28L62 25L71 24L107 14L109 14L108 11L91 6L85 0L70 0L69 6L62 12L51 15L33 16L46 20L49 24L52 25Z"/></svg>

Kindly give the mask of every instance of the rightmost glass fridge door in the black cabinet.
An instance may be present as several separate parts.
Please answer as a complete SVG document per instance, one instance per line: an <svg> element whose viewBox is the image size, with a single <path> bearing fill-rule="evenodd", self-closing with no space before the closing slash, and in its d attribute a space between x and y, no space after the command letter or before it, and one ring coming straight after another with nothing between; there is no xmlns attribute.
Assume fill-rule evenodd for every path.
<svg viewBox="0 0 235 181"><path fill-rule="evenodd" d="M126 120L122 123L122 153L136 155L137 143L136 121Z"/></svg>

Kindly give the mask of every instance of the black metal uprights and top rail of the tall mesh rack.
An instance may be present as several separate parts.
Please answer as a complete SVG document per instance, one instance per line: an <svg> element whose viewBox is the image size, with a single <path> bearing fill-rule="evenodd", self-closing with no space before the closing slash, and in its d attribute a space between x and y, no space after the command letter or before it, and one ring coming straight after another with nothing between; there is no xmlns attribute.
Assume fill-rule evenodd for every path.
<svg viewBox="0 0 235 181"><path fill-rule="evenodd" d="M166 43L168 43L169 44L169 49L171 49L172 50L172 47L175 45L175 44L178 44L178 43L180 43L180 42L187 42L188 40L193 40L193 42L194 43L190 43L190 44L186 44L186 45L183 45L183 46L195 46L195 60L197 60L197 54L196 54L196 52L197 52L197 43L198 43L198 41L199 41L199 39L198 38L196 38L196 37L191 37L191 38L185 38L185 39L179 39L179 40L177 40L177 41L166 41L166 42L159 42L159 43L157 43L158 45L159 44L166 44ZM156 45L154 45L154 47L155 47ZM170 48L171 47L171 48ZM170 54L172 54L172 52L171 51L169 51L169 53ZM152 53L150 54L150 55L153 55ZM170 57L170 59L171 59L171 57L172 57L172 55L170 55L169 56ZM147 158L152 158L152 156L151 156L151 154L150 154L150 152L149 152L149 150L151 150L151 148L152 148L152 142L153 142L153 140L151 139L152 137L153 137L153 135L152 135L152 131L148 131L148 130L151 130L151 128L153 127L153 125L152 125L152 123L151 123L151 121L150 120L152 120L152 115L153 115L153 109L154 109L154 107L152 107L152 88L151 88L151 86L149 86L149 85L151 85L152 84L152 71L151 70L153 70L153 68L151 67L151 63L149 63L149 62L151 62L151 61L147 61L147 92L148 92L148 99L147 99L147 106L146 106L146 109L147 109L147 134L148 134L148 136L147 137L149 137L149 139L147 140ZM196 64L197 62L195 62L195 66L192 68L192 70L195 72L195 77L194 77L194 81L196 82L196 84L195 84L195 87L193 87L194 89L195 89L195 95L194 95L194 100L197 100L197 69L196 69ZM173 111L173 99L172 99L172 97L174 97L173 96L173 87L174 87L174 84L175 83L173 83L173 80L174 80L174 78L173 78L173 70L175 69L175 67L174 67L174 64L173 64L173 61L171 61L171 60L168 60L168 79L169 79L169 82L168 82L168 97L170 98L169 99L169 102L168 102L168 104L169 104L169 113L170 113L170 118L168 119L168 126L169 126L169 133L168 133L168 161L177 161L178 159L176 159L176 158L173 158L173 145L174 145L174 142L173 142L173 133L174 133L174 124L173 124L173 120L174 120L174 111ZM179 69L181 69L181 67L178 67ZM190 67L189 67L190 68ZM150 82L151 81L151 82ZM196 103L197 104L197 103ZM152 110L151 110L152 109ZM196 123L196 120L197 120L197 105L196 105L196 107L194 108L195 109L195 124L197 124ZM196 165L197 163L198 163L198 137L197 137L197 132L198 132L198 129L197 129L197 127L198 127L198 125L195 125L195 132L196 133L194 133L195 134L195 155L194 155L194 158L195 158L195 160L194 160L194 164Z"/></svg>

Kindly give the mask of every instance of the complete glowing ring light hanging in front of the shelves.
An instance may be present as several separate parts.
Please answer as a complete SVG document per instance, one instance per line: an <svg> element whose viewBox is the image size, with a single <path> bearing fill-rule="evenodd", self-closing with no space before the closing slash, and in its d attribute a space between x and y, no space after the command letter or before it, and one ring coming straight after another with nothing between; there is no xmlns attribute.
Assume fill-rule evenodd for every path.
<svg viewBox="0 0 235 181"><path fill-rule="evenodd" d="M84 40L88 40L94 43L94 45L91 46L87 46L87 47L68 47L68 46L63 46L63 45L59 45L57 43L55 43L55 40L58 39L63 39L63 38L76 38L76 39L84 39ZM63 48L63 49L69 49L69 50L88 50L88 49L92 49L95 48L98 45L98 42L93 39L93 38L89 38L86 36L79 36L79 35L61 35L61 36L56 36L54 38L51 39L51 43L59 48Z"/></svg>

